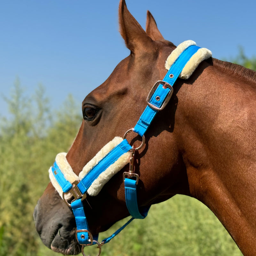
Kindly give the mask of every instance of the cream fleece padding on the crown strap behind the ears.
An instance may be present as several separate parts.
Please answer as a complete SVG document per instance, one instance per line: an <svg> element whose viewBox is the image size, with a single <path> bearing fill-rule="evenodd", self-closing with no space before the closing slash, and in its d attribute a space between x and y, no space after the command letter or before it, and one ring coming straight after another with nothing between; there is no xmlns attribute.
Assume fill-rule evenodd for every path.
<svg viewBox="0 0 256 256"><path fill-rule="evenodd" d="M185 41L177 46L175 50L169 55L165 62L165 68L169 70L174 63L174 61L180 56L180 53L183 52L188 46L196 45L192 40ZM188 79L192 73L196 70L198 65L208 58L212 57L212 52L206 48L200 48L198 51L188 60L185 67L182 69L179 77L182 79Z"/></svg>

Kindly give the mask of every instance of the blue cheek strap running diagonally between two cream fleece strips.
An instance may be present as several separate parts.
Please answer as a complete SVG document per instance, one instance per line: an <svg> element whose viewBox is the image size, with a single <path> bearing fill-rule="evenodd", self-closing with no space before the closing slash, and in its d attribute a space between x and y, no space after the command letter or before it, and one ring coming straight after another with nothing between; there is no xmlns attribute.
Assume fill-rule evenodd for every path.
<svg viewBox="0 0 256 256"><path fill-rule="evenodd" d="M104 172L111 164L115 163L116 160L124 153L131 149L131 145L125 139L113 148L100 162L95 165L92 170L85 175L85 177L78 183L77 187L84 194L87 189L91 186L92 182L98 178L100 173Z"/></svg>

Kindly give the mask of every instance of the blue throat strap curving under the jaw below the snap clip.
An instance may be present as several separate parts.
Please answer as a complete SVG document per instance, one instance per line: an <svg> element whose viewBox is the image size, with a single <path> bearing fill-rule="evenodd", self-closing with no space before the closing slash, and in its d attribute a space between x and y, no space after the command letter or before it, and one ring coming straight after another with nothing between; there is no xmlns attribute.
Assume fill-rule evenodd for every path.
<svg viewBox="0 0 256 256"><path fill-rule="evenodd" d="M127 209L133 218L144 219L148 215L149 207L145 207L142 212L139 211L136 188L136 180L129 178L124 179L125 203Z"/></svg>

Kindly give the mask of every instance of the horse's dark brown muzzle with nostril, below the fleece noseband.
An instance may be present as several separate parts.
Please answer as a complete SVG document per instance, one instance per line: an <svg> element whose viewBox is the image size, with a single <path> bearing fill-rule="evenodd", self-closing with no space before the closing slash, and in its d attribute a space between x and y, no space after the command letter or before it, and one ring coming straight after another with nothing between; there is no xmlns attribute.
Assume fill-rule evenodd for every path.
<svg viewBox="0 0 256 256"><path fill-rule="evenodd" d="M56 190L49 194L45 193L35 207L36 231L48 248L64 255L76 255L81 252L81 246L76 240L74 215Z"/></svg>

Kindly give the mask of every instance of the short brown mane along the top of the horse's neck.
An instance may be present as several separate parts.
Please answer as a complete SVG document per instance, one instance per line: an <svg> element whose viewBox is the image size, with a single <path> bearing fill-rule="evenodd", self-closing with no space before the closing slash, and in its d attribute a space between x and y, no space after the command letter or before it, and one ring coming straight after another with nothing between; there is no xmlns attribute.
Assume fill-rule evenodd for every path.
<svg viewBox="0 0 256 256"><path fill-rule="evenodd" d="M219 67L221 70L225 70L230 75L233 74L256 83L256 72L254 70L228 61L222 61L214 58L212 58L212 61L214 66Z"/></svg>

